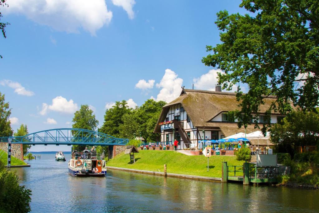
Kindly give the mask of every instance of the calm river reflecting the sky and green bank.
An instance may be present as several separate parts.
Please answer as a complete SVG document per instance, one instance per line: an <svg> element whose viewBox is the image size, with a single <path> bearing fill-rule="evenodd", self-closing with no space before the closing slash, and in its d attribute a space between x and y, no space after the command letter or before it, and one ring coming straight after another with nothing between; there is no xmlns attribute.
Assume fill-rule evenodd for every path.
<svg viewBox="0 0 319 213"><path fill-rule="evenodd" d="M105 178L68 174L69 155L12 168L32 190L32 212L318 212L319 191L213 183L108 170Z"/></svg>

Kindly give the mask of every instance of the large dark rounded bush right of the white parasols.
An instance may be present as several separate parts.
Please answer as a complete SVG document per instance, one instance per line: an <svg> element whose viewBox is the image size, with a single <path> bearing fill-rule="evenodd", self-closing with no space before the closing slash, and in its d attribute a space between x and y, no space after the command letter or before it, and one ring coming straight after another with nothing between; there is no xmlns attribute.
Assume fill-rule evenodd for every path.
<svg viewBox="0 0 319 213"><path fill-rule="evenodd" d="M315 112L291 111L270 129L271 141L279 152L294 154L294 146L319 143L319 115Z"/></svg>

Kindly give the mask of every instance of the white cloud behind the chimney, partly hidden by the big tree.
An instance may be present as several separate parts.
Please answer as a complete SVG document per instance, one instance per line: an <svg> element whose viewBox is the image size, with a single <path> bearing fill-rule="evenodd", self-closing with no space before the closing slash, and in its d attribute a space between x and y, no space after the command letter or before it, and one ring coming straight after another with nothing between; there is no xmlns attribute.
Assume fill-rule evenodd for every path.
<svg viewBox="0 0 319 213"><path fill-rule="evenodd" d="M202 90L209 90L209 91L215 91L215 85L218 83L218 75L217 73L225 73L220 69L217 70L210 70L206 74L201 75L199 78L194 78L194 89L202 89ZM237 91L237 86L233 86L233 89L231 91L226 92L235 92Z"/></svg>

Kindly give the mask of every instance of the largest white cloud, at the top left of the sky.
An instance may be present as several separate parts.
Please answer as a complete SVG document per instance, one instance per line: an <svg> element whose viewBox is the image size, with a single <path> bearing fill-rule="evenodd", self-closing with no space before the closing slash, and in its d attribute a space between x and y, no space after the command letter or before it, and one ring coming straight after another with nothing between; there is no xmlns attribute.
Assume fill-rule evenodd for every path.
<svg viewBox="0 0 319 213"><path fill-rule="evenodd" d="M113 16L105 0L7 0L6 3L10 6L3 8L4 13L23 14L36 23L67 33L77 33L83 28L95 35Z"/></svg>

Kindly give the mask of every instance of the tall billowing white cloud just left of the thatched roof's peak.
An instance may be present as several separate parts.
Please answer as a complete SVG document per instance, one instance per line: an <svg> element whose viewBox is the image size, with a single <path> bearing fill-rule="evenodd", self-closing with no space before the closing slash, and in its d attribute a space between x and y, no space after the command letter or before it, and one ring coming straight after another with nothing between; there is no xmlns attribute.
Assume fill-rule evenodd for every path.
<svg viewBox="0 0 319 213"><path fill-rule="evenodd" d="M177 78L177 74L170 70L166 69L165 74L159 84L156 84L156 87L162 88L157 95L156 100L163 100L166 102L171 102L181 94L181 87L183 80Z"/></svg>

